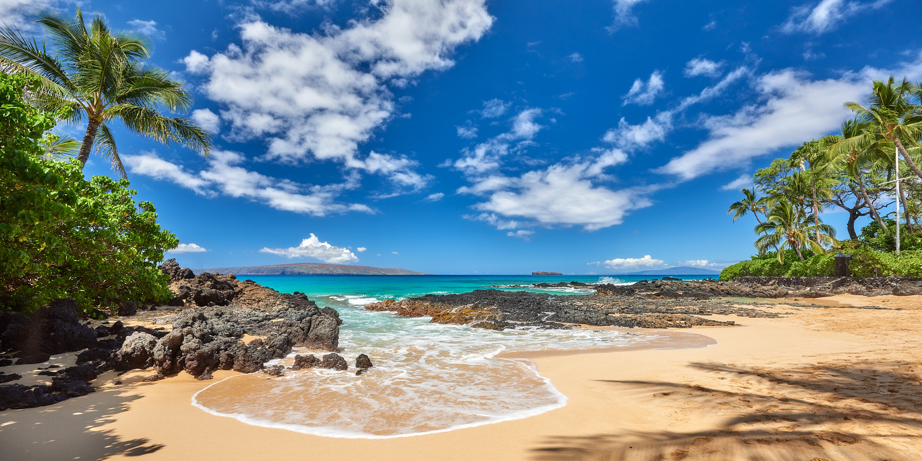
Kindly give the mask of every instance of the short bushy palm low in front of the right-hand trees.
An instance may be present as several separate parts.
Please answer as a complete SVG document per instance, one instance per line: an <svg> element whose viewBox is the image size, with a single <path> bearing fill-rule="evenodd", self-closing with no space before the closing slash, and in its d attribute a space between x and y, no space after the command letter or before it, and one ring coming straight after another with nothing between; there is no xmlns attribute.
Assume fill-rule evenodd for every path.
<svg viewBox="0 0 922 461"><path fill-rule="evenodd" d="M803 214L785 198L777 199L765 222L755 227L756 233L764 234L756 239L756 249L762 254L774 249L778 262L782 264L785 262L786 247L793 249L801 261L804 260L803 248L810 247L816 254L825 253L822 244L835 242L835 228L829 224L810 224L812 219L812 216ZM819 235L819 238L810 239L813 233Z"/></svg>

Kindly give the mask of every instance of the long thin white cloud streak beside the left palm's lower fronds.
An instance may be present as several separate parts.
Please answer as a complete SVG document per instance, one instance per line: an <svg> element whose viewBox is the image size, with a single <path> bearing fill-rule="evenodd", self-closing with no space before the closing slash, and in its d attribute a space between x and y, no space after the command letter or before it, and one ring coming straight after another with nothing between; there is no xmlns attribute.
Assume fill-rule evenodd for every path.
<svg viewBox="0 0 922 461"><path fill-rule="evenodd" d="M326 216L347 211L373 212L362 204L337 202L343 190L358 186L357 179L348 177L346 183L325 186L304 185L266 176L242 166L242 154L229 150L213 150L207 158L207 170L197 174L185 171L179 165L162 160L153 152L123 155L124 165L132 174L142 174L170 181L201 195L229 195L242 197L283 211L293 211L312 216Z"/></svg>

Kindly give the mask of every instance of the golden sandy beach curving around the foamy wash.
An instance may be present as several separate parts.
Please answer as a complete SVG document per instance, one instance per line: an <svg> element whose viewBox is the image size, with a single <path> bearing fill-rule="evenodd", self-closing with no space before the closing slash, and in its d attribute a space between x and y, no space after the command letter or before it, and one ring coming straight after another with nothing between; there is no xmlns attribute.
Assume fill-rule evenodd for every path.
<svg viewBox="0 0 922 461"><path fill-rule="evenodd" d="M703 349L533 358L569 400L524 420L386 440L327 438L190 404L233 372L157 383L140 382L146 372L110 372L89 396L0 413L0 446L8 460L922 457L922 297L801 301L838 307L780 304L776 312L790 315L727 316L718 319L741 325L684 330L718 341ZM842 307L865 305L899 310Z"/></svg>

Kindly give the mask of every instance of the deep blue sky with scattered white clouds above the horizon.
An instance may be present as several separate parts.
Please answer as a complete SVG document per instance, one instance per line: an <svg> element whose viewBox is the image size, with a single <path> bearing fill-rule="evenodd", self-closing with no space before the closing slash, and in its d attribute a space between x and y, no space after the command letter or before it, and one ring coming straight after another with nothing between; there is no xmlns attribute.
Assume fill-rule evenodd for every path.
<svg viewBox="0 0 922 461"><path fill-rule="evenodd" d="M206 158L115 130L191 267L720 269L754 253L727 207L756 169L922 79L908 0L79 3L147 34L212 133ZM77 3L0 18L41 33L36 7Z"/></svg>

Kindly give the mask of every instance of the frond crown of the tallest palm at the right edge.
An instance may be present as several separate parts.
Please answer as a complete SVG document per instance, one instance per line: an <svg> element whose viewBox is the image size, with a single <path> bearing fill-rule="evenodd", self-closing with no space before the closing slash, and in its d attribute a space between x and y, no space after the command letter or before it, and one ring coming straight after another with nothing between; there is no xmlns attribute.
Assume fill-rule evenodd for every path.
<svg viewBox="0 0 922 461"><path fill-rule="evenodd" d="M899 85L893 81L893 77L886 82L875 80L868 107L857 102L845 102L845 107L857 113L857 118L865 124L866 129L864 133L840 141L836 145L837 151L867 146L874 140L886 140L900 153L909 169L922 178L922 170L905 147L907 144L910 148L915 147L922 136L922 113L918 104L912 102L918 92L917 87L906 79Z"/></svg>

